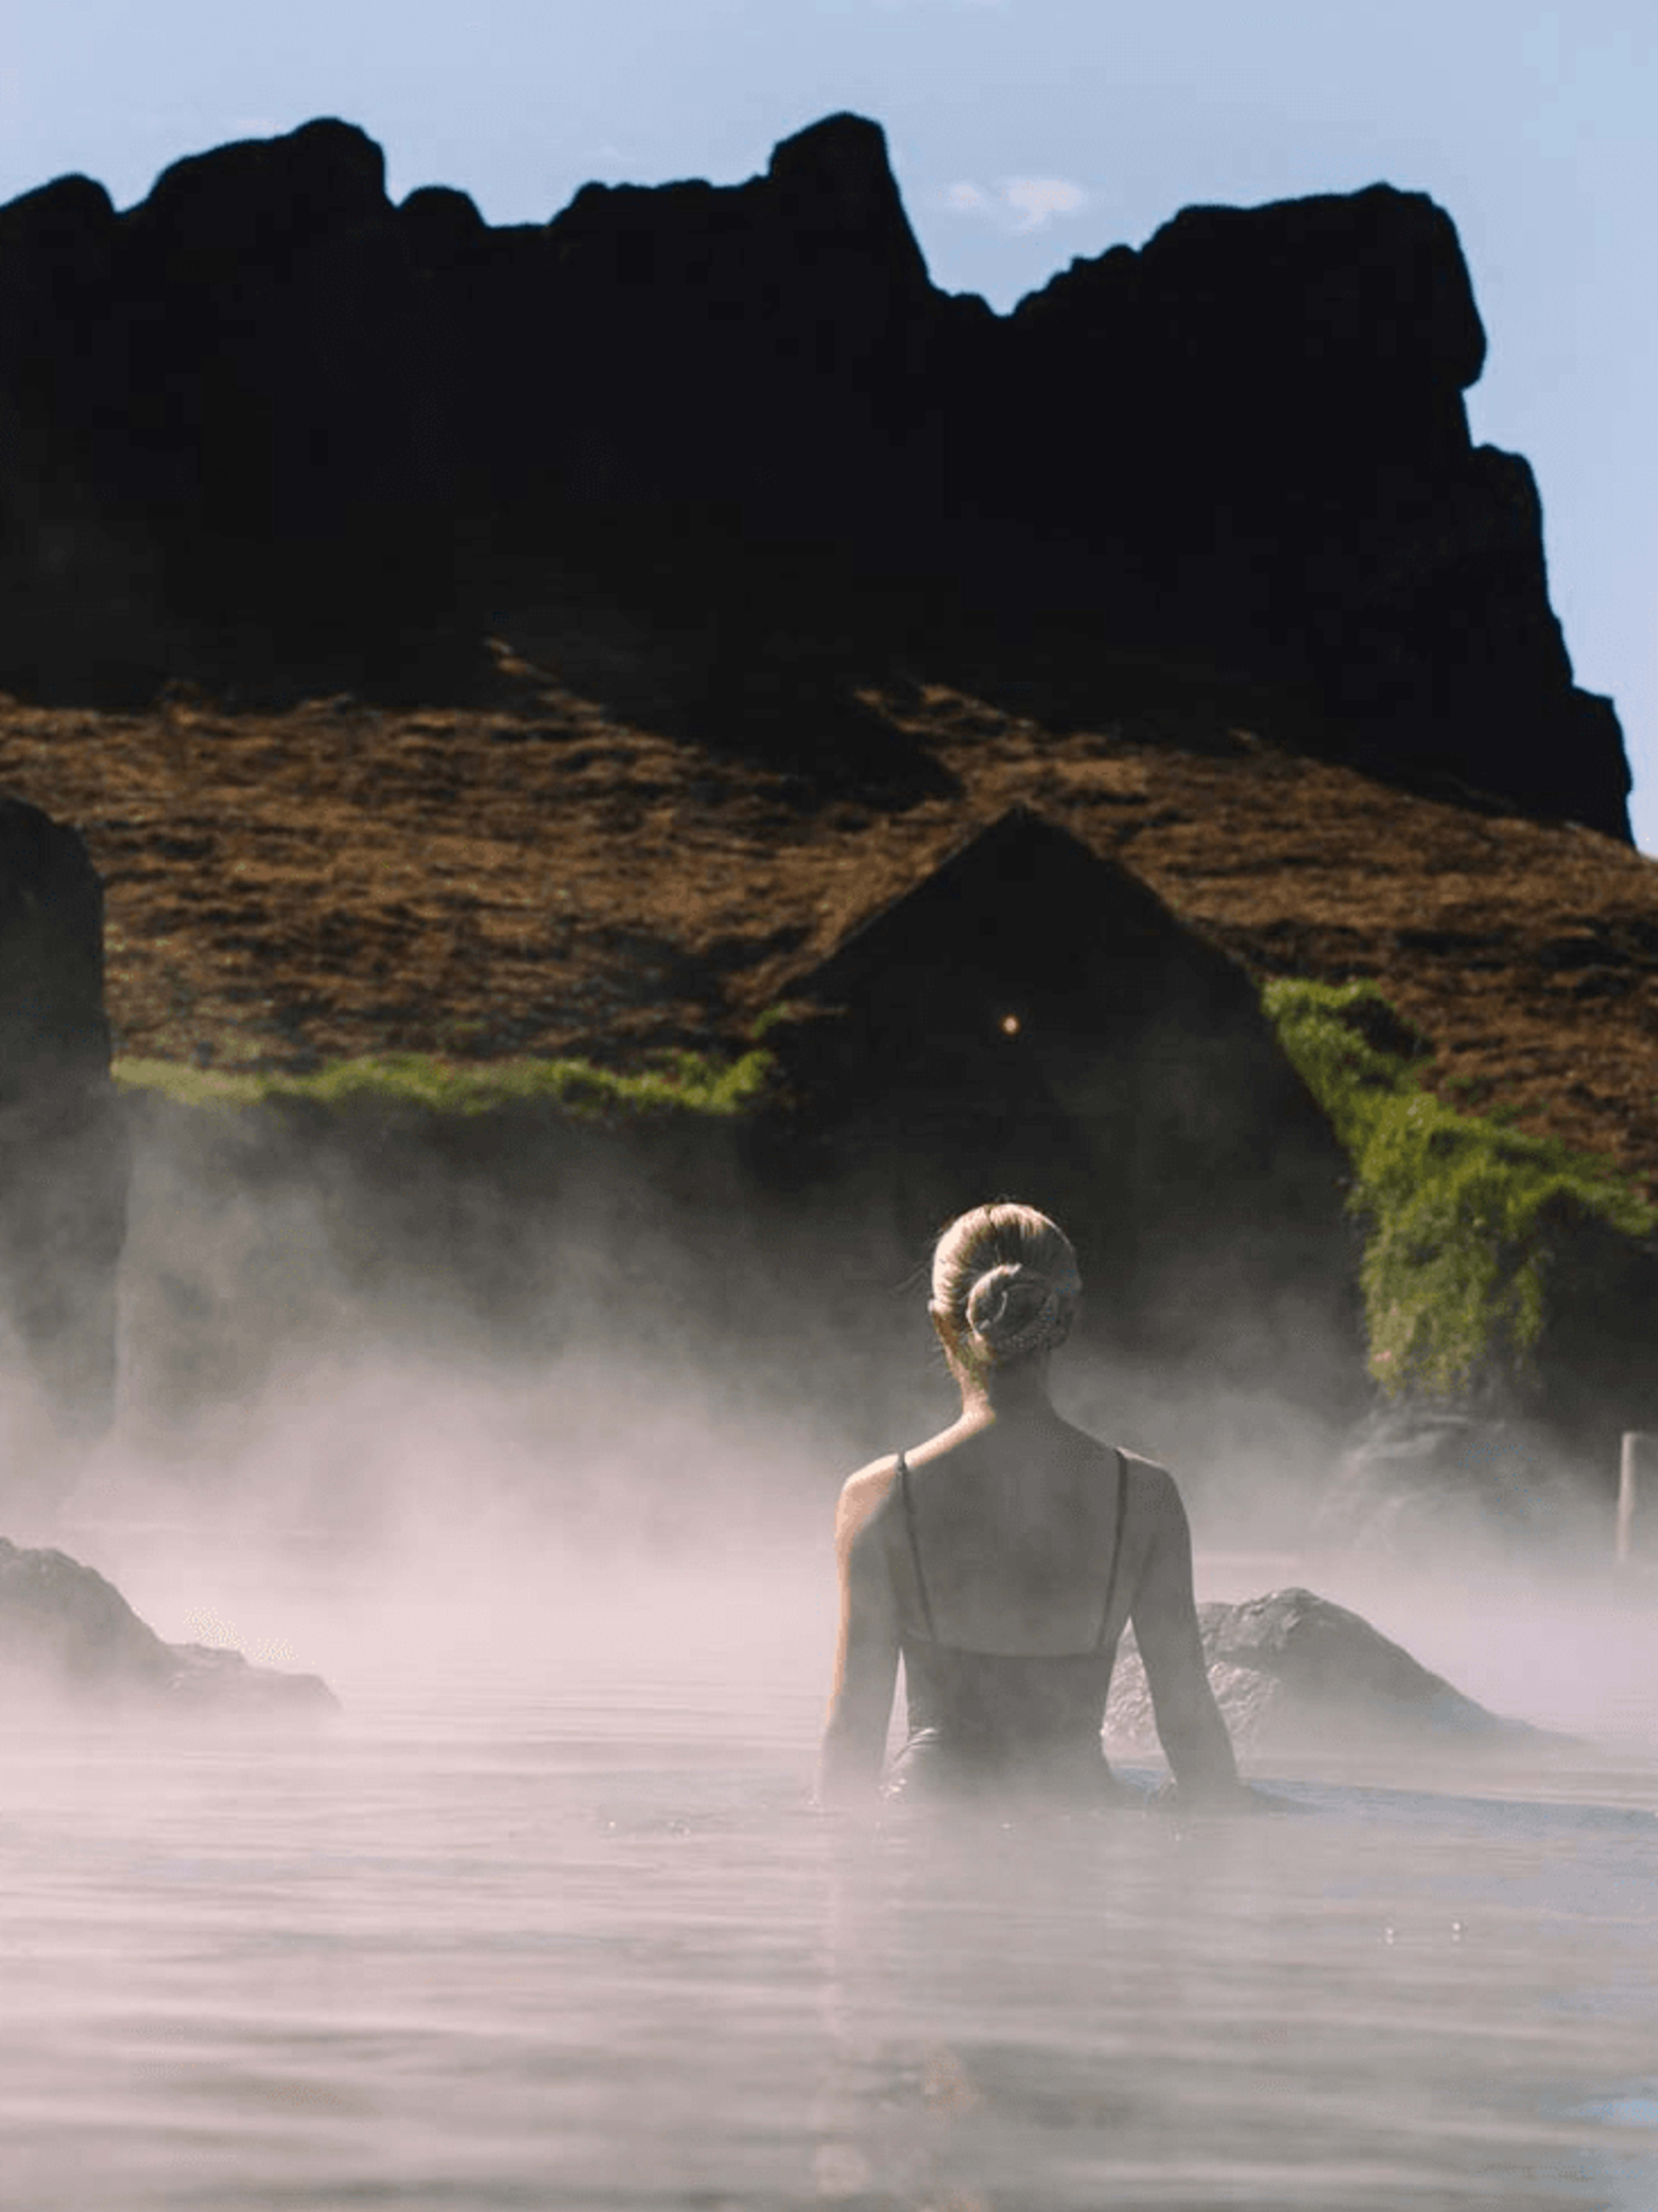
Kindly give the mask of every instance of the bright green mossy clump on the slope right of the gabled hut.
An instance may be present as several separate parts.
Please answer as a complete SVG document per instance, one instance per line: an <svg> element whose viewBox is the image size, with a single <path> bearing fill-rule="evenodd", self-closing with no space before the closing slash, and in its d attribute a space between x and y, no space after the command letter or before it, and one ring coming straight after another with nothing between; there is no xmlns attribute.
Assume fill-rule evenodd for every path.
<svg viewBox="0 0 1658 2212"><path fill-rule="evenodd" d="M1457 1113L1421 1088L1371 984L1269 982L1278 1040L1353 1159L1371 1371L1388 1391L1466 1396L1521 1374L1543 1332L1550 1252L1592 1214L1631 1237L1658 1214L1605 1161ZM1366 1037L1368 1031L1368 1037Z"/></svg>

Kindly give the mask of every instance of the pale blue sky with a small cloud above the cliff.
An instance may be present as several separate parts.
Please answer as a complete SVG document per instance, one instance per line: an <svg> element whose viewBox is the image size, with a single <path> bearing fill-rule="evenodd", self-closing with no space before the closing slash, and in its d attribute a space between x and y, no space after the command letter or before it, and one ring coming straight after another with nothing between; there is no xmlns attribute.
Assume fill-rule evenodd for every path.
<svg viewBox="0 0 1658 2212"><path fill-rule="evenodd" d="M1192 201L1375 179L1455 217L1578 681L1618 701L1658 854L1658 9L1640 0L7 0L0 199L126 206L183 153L345 115L396 195L542 219L588 177L730 181L875 115L933 268L1010 305Z"/></svg>

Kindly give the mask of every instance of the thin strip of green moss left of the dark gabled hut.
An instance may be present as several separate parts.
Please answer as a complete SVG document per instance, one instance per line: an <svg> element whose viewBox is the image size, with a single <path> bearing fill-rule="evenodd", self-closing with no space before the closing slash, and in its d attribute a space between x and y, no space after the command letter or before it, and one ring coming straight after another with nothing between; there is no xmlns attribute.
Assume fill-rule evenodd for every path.
<svg viewBox="0 0 1658 2212"><path fill-rule="evenodd" d="M172 1060L117 1060L115 1082L179 1106L237 1113L248 1106L312 1104L436 1115L482 1115L546 1106L579 1121L634 1121L670 1113L732 1117L749 1113L772 1084L772 1055L738 1060L670 1053L619 1073L590 1060L493 1060L453 1064L427 1053L336 1060L312 1075L190 1068Z"/></svg>

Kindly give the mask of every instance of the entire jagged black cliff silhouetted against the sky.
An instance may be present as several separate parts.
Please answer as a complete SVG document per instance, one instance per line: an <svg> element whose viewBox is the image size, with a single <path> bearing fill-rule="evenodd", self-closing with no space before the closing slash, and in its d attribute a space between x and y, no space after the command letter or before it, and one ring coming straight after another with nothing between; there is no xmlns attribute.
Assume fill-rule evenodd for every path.
<svg viewBox="0 0 1658 2212"><path fill-rule="evenodd" d="M853 115L513 228L391 206L340 122L124 215L66 177L0 208L0 681L418 692L539 555L707 630L714 719L778 630L955 619L1061 692L1265 681L1373 772L1627 836L1530 471L1470 442L1483 343L1450 219L1388 186L1192 208L995 316Z"/></svg>

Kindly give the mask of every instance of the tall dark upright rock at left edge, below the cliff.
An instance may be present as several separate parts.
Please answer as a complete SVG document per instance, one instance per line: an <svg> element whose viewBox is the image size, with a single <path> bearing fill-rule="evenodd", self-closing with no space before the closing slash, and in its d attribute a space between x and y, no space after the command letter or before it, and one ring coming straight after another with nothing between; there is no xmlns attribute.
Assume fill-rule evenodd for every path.
<svg viewBox="0 0 1658 2212"><path fill-rule="evenodd" d="M115 1394L128 1137L108 1062L97 869L73 830L0 799L0 1343L82 1438Z"/></svg>

